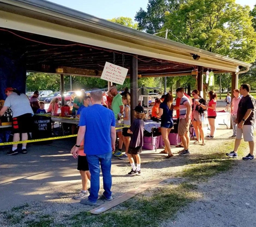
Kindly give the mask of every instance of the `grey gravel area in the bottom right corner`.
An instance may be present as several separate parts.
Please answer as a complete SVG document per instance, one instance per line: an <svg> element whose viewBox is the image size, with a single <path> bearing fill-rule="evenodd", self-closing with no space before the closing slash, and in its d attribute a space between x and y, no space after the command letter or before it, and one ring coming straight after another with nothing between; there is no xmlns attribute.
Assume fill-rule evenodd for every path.
<svg viewBox="0 0 256 227"><path fill-rule="evenodd" d="M255 138L254 138L255 141ZM247 152L248 153L248 152ZM161 226L256 226L256 160L236 160L237 165L198 185L202 197L178 211L177 218Z"/></svg>

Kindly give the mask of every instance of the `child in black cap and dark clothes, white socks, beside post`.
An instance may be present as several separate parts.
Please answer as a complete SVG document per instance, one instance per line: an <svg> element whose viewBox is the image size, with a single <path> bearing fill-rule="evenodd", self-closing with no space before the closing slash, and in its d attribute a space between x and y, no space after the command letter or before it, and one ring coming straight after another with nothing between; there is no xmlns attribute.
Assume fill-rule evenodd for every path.
<svg viewBox="0 0 256 227"><path fill-rule="evenodd" d="M130 140L130 145L128 148L128 158L130 161L130 165L132 166L132 171L128 173L128 175L141 175L141 158L140 153L143 146L143 130L144 130L144 121L146 118L146 114L144 113L143 107L141 105L137 105L135 107L135 120L133 124L128 129L128 133L132 134L132 139ZM137 169L134 164L133 155L136 157Z"/></svg>

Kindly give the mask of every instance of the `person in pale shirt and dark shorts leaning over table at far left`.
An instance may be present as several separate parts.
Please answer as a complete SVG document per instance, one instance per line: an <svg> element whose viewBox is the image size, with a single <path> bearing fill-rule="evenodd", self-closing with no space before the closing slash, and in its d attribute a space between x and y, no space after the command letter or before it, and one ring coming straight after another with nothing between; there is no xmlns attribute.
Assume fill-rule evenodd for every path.
<svg viewBox="0 0 256 227"><path fill-rule="evenodd" d="M23 93L20 93L15 88L6 88L5 94L7 98L4 106L0 111L2 117L8 108L12 111L12 132L13 142L20 141L20 134L22 134L22 141L28 139L28 134L31 132L33 110L30 106L29 98ZM18 144L12 145L12 150L7 152L7 155L18 154ZM21 153L26 154L26 143L22 144Z"/></svg>

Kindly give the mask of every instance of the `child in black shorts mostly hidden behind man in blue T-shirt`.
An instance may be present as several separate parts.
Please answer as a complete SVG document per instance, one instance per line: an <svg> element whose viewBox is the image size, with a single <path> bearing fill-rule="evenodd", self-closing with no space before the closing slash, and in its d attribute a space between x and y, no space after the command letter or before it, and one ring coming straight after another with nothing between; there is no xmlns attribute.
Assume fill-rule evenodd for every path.
<svg viewBox="0 0 256 227"><path fill-rule="evenodd" d="M91 173L89 172L89 166L86 154L84 152L84 140L82 140L81 146L79 147L77 169L81 174L82 190L78 195L74 196L74 200L81 200L82 198L89 196L89 191L87 190L87 182L88 179L91 180Z"/></svg>

